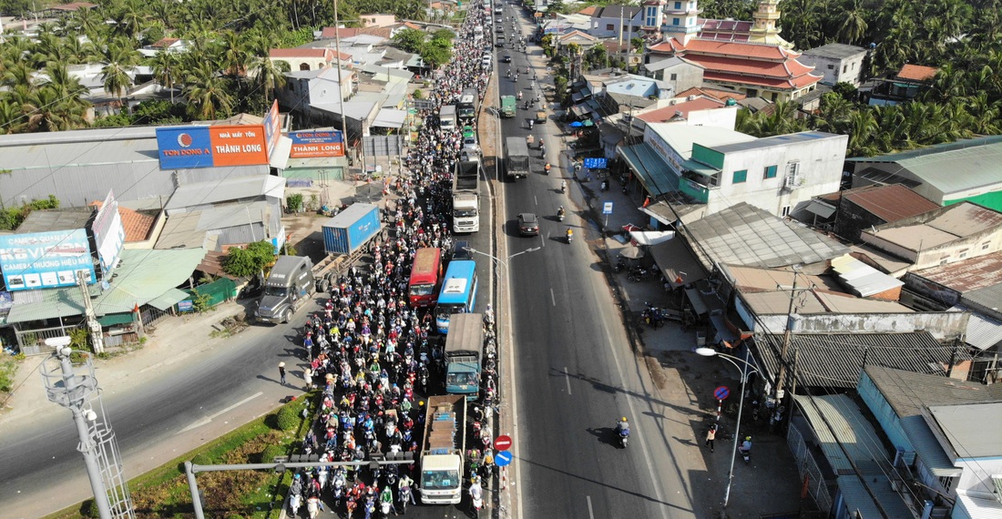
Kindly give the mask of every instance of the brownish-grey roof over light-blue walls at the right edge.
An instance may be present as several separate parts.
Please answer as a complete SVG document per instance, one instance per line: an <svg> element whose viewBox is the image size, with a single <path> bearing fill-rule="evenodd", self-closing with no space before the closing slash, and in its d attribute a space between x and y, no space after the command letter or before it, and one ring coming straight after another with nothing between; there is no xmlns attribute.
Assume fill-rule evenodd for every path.
<svg viewBox="0 0 1002 519"><path fill-rule="evenodd" d="M867 366L866 372L899 417L921 415L924 406L1002 402L1002 385L986 386L880 366Z"/></svg>

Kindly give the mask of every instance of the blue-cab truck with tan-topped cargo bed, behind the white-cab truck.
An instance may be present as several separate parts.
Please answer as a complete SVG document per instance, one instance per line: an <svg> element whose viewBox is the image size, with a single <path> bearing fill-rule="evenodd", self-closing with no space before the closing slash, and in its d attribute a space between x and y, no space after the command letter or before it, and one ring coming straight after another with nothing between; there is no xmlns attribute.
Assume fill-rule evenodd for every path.
<svg viewBox="0 0 1002 519"><path fill-rule="evenodd" d="M484 316L456 314L445 338L445 392L476 400L480 394L480 360L484 349Z"/></svg>

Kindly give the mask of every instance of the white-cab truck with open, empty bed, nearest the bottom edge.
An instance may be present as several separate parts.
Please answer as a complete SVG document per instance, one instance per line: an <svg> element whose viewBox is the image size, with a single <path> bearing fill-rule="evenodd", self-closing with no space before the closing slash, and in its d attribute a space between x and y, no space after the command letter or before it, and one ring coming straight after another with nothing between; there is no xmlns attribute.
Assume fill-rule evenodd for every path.
<svg viewBox="0 0 1002 519"><path fill-rule="evenodd" d="M421 502L456 505L463 497L466 452L466 398L428 397L425 440L421 449Z"/></svg>

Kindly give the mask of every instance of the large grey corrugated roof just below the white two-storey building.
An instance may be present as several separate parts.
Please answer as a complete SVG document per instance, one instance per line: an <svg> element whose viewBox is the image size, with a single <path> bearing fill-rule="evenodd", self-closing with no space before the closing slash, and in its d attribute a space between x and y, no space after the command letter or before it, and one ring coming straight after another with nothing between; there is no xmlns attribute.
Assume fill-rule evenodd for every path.
<svg viewBox="0 0 1002 519"><path fill-rule="evenodd" d="M788 267L849 252L849 247L835 239L746 202L697 219L687 224L685 231L716 264Z"/></svg>

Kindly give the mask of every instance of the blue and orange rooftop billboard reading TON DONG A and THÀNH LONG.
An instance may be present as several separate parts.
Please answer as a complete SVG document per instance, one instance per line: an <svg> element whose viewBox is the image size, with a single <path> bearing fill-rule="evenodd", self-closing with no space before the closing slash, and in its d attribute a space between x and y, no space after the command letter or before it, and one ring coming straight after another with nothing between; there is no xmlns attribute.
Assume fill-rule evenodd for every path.
<svg viewBox="0 0 1002 519"><path fill-rule="evenodd" d="M156 128L160 169L268 164L263 124Z"/></svg>

